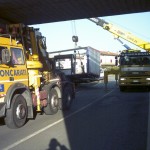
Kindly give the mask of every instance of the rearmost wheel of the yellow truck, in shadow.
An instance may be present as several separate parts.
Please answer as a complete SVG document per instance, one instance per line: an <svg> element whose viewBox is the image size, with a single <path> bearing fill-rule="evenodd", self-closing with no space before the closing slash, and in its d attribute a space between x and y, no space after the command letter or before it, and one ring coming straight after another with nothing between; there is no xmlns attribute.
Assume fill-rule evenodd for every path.
<svg viewBox="0 0 150 150"><path fill-rule="evenodd" d="M70 109L72 101L73 101L72 90L70 88L65 88L62 99L62 109L63 110Z"/></svg>

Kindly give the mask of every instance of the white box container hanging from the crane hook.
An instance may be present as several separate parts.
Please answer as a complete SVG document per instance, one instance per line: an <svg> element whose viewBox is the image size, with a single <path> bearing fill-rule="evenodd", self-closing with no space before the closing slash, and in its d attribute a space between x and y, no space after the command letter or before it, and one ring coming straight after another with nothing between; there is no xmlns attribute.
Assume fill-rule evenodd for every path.
<svg viewBox="0 0 150 150"><path fill-rule="evenodd" d="M69 57L74 56L74 61L70 60ZM57 57L57 64L60 69L66 75L71 75L72 77L84 78L84 79L94 79L100 76L100 52L93 49L92 47L81 47L70 50L62 50L49 53L50 58ZM72 57L70 57L71 59ZM72 67L73 64L74 67ZM74 69L73 69L74 68Z"/></svg>

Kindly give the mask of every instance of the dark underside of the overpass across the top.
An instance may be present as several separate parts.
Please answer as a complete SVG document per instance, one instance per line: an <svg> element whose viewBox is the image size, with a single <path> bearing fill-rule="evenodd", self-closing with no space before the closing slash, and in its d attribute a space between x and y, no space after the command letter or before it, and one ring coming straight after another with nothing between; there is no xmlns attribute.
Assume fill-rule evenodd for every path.
<svg viewBox="0 0 150 150"><path fill-rule="evenodd" d="M1 0L1 23L26 25L150 11L150 0Z"/></svg>

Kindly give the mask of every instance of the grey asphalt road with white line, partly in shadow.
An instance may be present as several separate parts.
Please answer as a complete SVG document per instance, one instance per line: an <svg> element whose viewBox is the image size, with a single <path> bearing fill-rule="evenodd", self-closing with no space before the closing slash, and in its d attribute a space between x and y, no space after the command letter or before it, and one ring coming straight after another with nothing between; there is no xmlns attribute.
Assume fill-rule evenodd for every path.
<svg viewBox="0 0 150 150"><path fill-rule="evenodd" d="M20 129L0 120L0 149L148 150L149 92L120 92L110 78L77 87L70 111L37 114Z"/></svg>

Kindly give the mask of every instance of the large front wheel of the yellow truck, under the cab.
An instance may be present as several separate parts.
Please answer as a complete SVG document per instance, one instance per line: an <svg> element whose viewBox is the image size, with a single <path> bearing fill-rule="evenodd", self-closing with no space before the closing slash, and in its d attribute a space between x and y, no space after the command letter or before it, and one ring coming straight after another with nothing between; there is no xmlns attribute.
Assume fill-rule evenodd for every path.
<svg viewBox="0 0 150 150"><path fill-rule="evenodd" d="M9 128L22 127L27 119L27 104L25 98L16 94L11 102L10 109L6 111L5 123Z"/></svg>

